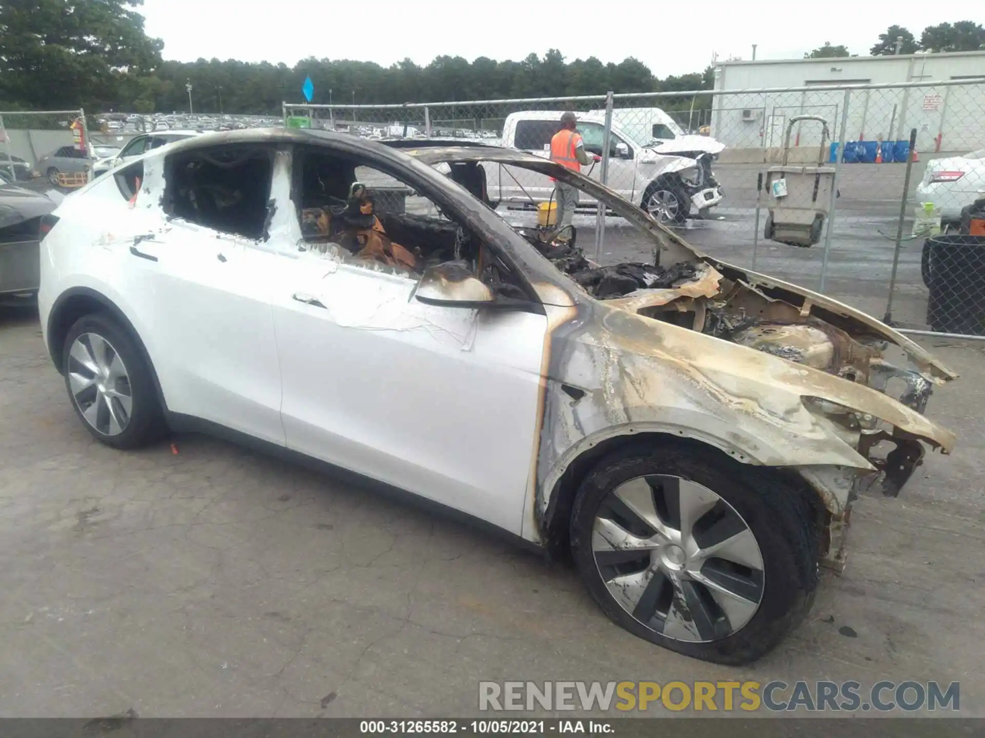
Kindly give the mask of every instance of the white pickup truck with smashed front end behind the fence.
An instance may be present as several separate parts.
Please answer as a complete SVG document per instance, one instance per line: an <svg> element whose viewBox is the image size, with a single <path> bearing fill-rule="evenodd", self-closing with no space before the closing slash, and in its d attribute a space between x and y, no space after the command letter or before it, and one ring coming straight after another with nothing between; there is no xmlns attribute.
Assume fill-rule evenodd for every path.
<svg viewBox="0 0 985 738"><path fill-rule="evenodd" d="M549 156L551 137L558 133L561 110L528 110L511 113L503 124L499 146L531 154ZM578 132L585 149L602 154L605 116L585 113L578 116ZM707 161L702 158L707 156ZM698 158L658 154L641 146L618 125L613 124L609 146L607 184L626 200L661 222L681 223L691 211L705 211L723 198L721 187L711 175L711 154ZM554 183L546 175L504 164L484 164L487 190L493 203L529 205L547 202ZM602 165L582 167L592 179L601 178ZM582 195L583 206L594 204Z"/></svg>

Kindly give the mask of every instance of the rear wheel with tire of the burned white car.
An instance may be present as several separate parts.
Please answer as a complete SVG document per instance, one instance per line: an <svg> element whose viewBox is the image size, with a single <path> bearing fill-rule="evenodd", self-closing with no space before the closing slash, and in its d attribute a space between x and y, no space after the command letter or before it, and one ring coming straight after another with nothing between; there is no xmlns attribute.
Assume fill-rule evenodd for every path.
<svg viewBox="0 0 985 738"><path fill-rule="evenodd" d="M80 318L65 338L63 361L72 405L99 441L136 449L161 438L151 369L123 326L101 314Z"/></svg>

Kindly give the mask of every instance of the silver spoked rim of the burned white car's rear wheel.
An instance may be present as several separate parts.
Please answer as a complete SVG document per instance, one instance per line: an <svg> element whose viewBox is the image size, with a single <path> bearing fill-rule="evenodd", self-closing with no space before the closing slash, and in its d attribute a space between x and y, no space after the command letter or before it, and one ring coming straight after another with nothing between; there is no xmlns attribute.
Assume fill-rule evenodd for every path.
<svg viewBox="0 0 985 738"><path fill-rule="evenodd" d="M72 400L82 417L104 436L118 436L130 424L130 375L112 344L99 334L82 334L68 354Z"/></svg>

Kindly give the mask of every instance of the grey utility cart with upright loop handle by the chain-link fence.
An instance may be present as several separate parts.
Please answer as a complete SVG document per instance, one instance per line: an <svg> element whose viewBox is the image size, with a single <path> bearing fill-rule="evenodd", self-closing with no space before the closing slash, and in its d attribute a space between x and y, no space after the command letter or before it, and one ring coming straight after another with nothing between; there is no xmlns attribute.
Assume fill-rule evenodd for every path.
<svg viewBox="0 0 985 738"><path fill-rule="evenodd" d="M794 123L804 120L821 123L817 166L790 164L790 134ZM790 246L813 246L821 241L834 186L834 167L822 165L829 139L827 121L820 115L795 115L790 119L783 140L783 163L766 170L770 205L763 236L768 240Z"/></svg>

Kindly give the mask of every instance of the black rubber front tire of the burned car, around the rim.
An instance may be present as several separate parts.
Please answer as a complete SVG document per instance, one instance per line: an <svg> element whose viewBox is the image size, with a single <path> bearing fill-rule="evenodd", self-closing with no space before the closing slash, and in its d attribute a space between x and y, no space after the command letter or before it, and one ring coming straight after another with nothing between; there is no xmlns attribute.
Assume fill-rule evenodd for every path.
<svg viewBox="0 0 985 738"><path fill-rule="evenodd" d="M668 638L624 609L600 573L592 535L596 515L604 510L603 501L624 482L653 474L679 477L713 491L741 516L755 536L762 561L758 605L748 622L729 635L703 642ZM581 483L571 514L571 551L589 592L617 625L694 658L739 665L755 661L779 644L810 610L819 581L821 520L817 494L795 477L734 461L698 444L637 444L603 458ZM677 606L678 595L673 596ZM700 630L696 622L691 623ZM726 631L728 624L726 618Z"/></svg>

